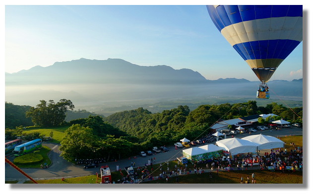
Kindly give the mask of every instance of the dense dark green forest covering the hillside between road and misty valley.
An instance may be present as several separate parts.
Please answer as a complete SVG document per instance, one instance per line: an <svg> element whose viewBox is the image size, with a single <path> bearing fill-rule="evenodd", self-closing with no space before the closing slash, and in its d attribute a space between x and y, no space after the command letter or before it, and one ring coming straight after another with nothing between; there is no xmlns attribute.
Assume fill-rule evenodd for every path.
<svg viewBox="0 0 315 196"><path fill-rule="evenodd" d="M46 105L43 103L42 101L38 106L45 108L52 105L56 107L53 101ZM72 107L70 101L67 103ZM23 134L24 138L29 139L40 137L40 133L22 133L21 127L34 126L32 124L34 119L26 118L26 114L34 113L35 110L42 108L5 104L8 108L5 110L5 122L21 124L15 129L6 129L7 138L14 139ZM65 115L63 114L63 121L58 117L60 123L56 126L68 126L61 141L62 156L66 160L98 157L120 159L153 146L172 145L183 137L197 139L208 134L208 128L217 121L271 113L292 123L303 123L302 107L287 108L277 103L257 107L256 101L248 101L236 104L200 105L192 111L188 106L178 106L161 113L151 113L140 107L135 110L118 112L108 117L90 115L87 118L77 118L69 122L64 121ZM37 113L35 117L38 118ZM6 125L6 128L9 127Z"/></svg>

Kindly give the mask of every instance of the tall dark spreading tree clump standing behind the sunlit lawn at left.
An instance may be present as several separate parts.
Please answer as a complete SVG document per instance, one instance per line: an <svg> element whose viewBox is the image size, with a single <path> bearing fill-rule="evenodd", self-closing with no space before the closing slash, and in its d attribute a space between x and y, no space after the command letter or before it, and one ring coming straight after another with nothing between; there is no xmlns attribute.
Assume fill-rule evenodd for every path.
<svg viewBox="0 0 315 196"><path fill-rule="evenodd" d="M38 126L56 127L64 122L65 114L68 109L73 110L74 105L70 100L61 99L55 103L49 100L41 100L36 108L31 107L26 112L26 117L32 118L32 122Z"/></svg>

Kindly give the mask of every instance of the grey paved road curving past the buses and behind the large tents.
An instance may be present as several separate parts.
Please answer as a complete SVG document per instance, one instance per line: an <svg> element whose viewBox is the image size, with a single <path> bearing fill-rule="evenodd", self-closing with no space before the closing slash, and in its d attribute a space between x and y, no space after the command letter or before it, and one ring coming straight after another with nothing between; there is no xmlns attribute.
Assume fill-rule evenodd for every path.
<svg viewBox="0 0 315 196"><path fill-rule="evenodd" d="M270 136L285 136L285 135L301 135L303 134L303 129L301 128L286 128L280 131L257 131L252 132L252 134L265 134ZM248 136L248 133L242 133L236 135L238 138L242 138ZM231 135L227 136L227 138L231 138ZM215 143L215 142L212 142ZM209 143L205 143L209 144ZM66 177L77 177L77 176L85 176L100 173L99 168L91 168L91 169L83 169L83 165L75 165L73 163L69 163L65 161L62 157L60 157L59 145L52 143L44 143L44 145L50 147L52 151L49 153L53 164L48 169L37 169L37 168L25 168L22 169L25 173L31 176L35 180L39 179L53 179L53 178L66 178ZM155 157L155 163L165 162L166 160L174 160L176 157L182 156L183 148L175 149L174 146L169 146L169 152L163 152L159 154L153 154L152 156L131 158L131 159L123 159L117 162L109 162L102 163L102 165L108 165L111 168L111 171L116 170L116 166L118 165L120 168L124 168L131 164L131 161L135 162L135 166L143 166L145 163L148 163L148 160ZM10 161L13 160L13 157L9 158ZM24 175L16 171L10 165L5 164L5 180L28 180Z"/></svg>

